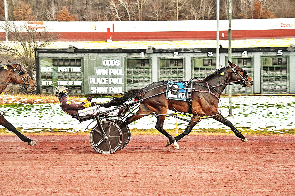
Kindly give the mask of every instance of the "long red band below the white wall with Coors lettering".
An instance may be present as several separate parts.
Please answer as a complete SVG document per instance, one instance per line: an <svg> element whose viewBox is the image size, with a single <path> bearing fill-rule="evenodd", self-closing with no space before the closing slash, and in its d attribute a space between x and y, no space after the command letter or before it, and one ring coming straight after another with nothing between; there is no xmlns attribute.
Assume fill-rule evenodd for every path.
<svg viewBox="0 0 295 196"><path fill-rule="evenodd" d="M224 37L222 37L224 33ZM106 41L106 32L55 32L56 41ZM111 32L113 41L215 40L216 31ZM227 39L220 31L220 39ZM295 29L232 31L232 39L295 38ZM0 32L5 41L5 32Z"/></svg>

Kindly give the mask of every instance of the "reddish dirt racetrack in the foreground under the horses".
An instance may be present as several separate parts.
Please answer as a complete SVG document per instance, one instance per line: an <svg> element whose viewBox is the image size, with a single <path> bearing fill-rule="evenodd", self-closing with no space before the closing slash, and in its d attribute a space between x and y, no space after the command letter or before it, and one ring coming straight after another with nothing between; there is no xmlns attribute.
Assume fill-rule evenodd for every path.
<svg viewBox="0 0 295 196"><path fill-rule="evenodd" d="M295 195L294 136L132 136L96 153L87 136L0 137L0 195Z"/></svg>

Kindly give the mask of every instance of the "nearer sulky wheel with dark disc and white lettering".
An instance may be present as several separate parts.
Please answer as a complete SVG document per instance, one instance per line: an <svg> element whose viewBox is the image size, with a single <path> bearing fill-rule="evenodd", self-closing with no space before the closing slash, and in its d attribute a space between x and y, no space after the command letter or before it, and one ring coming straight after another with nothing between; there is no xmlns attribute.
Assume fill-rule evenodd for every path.
<svg viewBox="0 0 295 196"><path fill-rule="evenodd" d="M91 146L101 154L112 154L116 152L122 144L122 131L117 124L110 121L103 121L101 125L108 138L103 138L100 126L96 124L90 132Z"/></svg>

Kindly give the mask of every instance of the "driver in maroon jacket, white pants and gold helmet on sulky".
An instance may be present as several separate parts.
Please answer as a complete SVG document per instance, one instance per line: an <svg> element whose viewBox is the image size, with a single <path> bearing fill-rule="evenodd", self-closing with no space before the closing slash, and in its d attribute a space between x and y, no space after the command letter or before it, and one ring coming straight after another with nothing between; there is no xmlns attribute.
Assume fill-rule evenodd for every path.
<svg viewBox="0 0 295 196"><path fill-rule="evenodd" d="M86 116L86 115L96 115L98 113L103 113L108 110L109 108L100 107L96 102L90 102L92 99L92 96L88 96L87 99L85 99L82 103L77 104L73 100L68 100L68 88L65 86L58 86L54 89L54 95L58 97L60 102L60 108L67 114L71 116ZM121 108L123 109L123 108ZM120 110L121 110L120 109ZM122 111L120 110L114 110L112 112L107 113L106 115L114 115L114 116L120 116L122 112L124 112L124 109Z"/></svg>

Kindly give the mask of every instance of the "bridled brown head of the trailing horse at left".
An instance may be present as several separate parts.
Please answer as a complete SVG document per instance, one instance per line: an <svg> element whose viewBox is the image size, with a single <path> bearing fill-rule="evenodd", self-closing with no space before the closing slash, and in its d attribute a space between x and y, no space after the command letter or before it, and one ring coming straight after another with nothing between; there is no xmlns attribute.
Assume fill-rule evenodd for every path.
<svg viewBox="0 0 295 196"><path fill-rule="evenodd" d="M32 80L32 78L29 76L26 70L22 68L22 66L19 63L15 63L12 61L9 61L9 64L7 64L7 70L11 71L11 81L15 84L20 84L24 89L27 91L35 91L37 88L36 83Z"/></svg>

